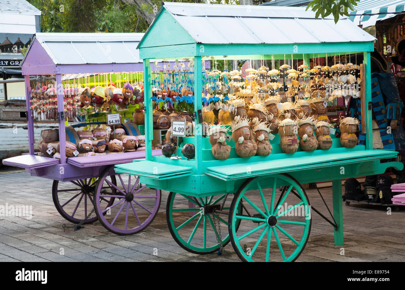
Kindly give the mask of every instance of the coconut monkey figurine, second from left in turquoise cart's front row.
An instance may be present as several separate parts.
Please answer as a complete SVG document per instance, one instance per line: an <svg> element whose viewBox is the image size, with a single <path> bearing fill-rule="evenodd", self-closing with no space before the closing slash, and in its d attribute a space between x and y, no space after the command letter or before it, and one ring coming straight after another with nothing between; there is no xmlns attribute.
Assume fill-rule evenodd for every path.
<svg viewBox="0 0 405 290"><path fill-rule="evenodd" d="M239 116L232 121L232 139L235 141L235 151L239 157L255 156L257 145L253 138L253 132L250 130L249 122L246 118Z"/></svg>

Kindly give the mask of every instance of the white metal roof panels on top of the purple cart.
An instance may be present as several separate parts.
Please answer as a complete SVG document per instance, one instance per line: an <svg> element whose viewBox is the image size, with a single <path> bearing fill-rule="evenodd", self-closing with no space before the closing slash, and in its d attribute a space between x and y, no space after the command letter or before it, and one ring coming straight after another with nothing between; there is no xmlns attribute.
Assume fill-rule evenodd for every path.
<svg viewBox="0 0 405 290"><path fill-rule="evenodd" d="M37 33L55 64L125 64L142 62L136 49L143 33Z"/></svg>

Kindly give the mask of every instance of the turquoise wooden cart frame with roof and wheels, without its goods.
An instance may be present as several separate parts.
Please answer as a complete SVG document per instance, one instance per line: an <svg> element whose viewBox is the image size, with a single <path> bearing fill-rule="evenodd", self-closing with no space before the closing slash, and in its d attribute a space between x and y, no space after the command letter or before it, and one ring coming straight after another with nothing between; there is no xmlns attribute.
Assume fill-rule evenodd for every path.
<svg viewBox="0 0 405 290"><path fill-rule="evenodd" d="M146 105L146 159L115 166L117 173L140 176L151 188L170 191L166 216L173 238L184 249L208 254L232 242L243 261L294 261L311 230L311 206L303 183L333 181L335 244L343 245L341 180L384 173L399 162L395 151L372 149L370 52L373 36L349 19L314 19L297 7L233 6L164 2L139 43L143 58ZM149 61L194 58L194 110L202 109L202 58L283 59L324 57L335 53L364 53L365 99L363 132L366 146L341 147L333 138L328 150L284 154L279 136L269 156L239 158L232 148L227 160L215 160L196 117L195 158L173 160L152 156L151 68ZM304 56L304 57L303 57ZM147 101L149 100L149 102ZM363 112L363 110L362 110ZM230 142L234 147L234 143ZM179 154L181 156L181 154ZM318 212L318 210L315 210ZM332 213L331 213L332 214ZM221 233L221 229L223 230ZM228 229L228 233L226 233Z"/></svg>

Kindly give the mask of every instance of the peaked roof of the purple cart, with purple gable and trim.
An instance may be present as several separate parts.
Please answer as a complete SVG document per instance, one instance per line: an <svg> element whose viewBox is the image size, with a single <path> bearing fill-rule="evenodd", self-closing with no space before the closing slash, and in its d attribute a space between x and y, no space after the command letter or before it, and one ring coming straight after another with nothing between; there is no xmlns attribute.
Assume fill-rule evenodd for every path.
<svg viewBox="0 0 405 290"><path fill-rule="evenodd" d="M143 33L37 33L21 62L23 75L134 70L141 65L136 49ZM96 70L98 65L103 70ZM107 65L115 65L114 69ZM130 69L132 65L132 69ZM124 70L126 69L126 70ZM107 71L105 71L107 70ZM138 70L142 70L139 69ZM24 73L24 71L26 73Z"/></svg>

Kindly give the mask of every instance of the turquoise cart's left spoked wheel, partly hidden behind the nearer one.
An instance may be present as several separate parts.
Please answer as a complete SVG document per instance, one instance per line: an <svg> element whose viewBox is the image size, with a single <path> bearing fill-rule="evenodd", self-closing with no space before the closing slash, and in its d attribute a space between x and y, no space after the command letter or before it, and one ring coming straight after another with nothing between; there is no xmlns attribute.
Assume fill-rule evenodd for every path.
<svg viewBox="0 0 405 290"><path fill-rule="evenodd" d="M170 192L166 204L166 220L173 239L188 252L210 254L220 249L217 234L221 229L222 245L229 243L226 215L212 212L228 212L233 194L192 197ZM241 213L241 207L237 210ZM215 218L215 220L214 220ZM237 224L235 224L237 227Z"/></svg>

